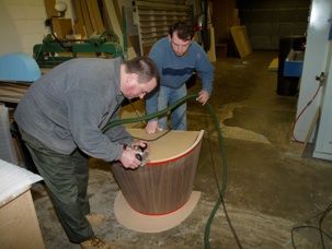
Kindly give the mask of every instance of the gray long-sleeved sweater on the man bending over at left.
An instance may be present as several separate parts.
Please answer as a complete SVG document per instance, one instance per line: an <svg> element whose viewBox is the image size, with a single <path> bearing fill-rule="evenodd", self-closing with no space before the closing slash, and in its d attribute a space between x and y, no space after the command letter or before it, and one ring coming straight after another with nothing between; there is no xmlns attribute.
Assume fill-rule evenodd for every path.
<svg viewBox="0 0 332 249"><path fill-rule="evenodd" d="M123 126L101 129L119 119L121 59L72 59L34 82L15 110L15 121L49 149L70 154L77 147L107 162L118 159L133 138Z"/></svg>

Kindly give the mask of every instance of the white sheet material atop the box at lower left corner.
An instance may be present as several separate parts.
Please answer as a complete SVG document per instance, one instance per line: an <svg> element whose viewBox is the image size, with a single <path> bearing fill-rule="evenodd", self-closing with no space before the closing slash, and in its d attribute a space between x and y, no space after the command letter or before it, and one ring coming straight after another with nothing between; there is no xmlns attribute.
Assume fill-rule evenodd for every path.
<svg viewBox="0 0 332 249"><path fill-rule="evenodd" d="M0 159L0 208L39 180L39 175Z"/></svg>

